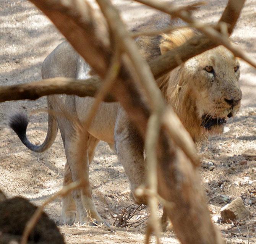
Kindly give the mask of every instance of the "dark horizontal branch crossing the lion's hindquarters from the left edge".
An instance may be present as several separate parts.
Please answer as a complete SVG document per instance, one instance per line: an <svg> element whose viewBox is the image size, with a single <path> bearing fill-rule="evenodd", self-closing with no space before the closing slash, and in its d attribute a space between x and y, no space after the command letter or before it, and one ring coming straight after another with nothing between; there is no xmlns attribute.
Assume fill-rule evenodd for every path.
<svg viewBox="0 0 256 244"><path fill-rule="evenodd" d="M34 81L25 84L0 86L0 102L31 99L51 94L78 95L79 97L94 97L102 81L98 76L86 80L75 80L72 78L57 77ZM105 102L115 102L112 95L107 94Z"/></svg>

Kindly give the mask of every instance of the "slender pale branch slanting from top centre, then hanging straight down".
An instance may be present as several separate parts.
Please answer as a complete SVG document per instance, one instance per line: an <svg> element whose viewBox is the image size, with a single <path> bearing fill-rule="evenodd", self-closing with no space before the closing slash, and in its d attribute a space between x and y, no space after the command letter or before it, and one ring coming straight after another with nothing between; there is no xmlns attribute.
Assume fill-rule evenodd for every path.
<svg viewBox="0 0 256 244"><path fill-rule="evenodd" d="M135 68L139 79L138 81L141 83L141 87L146 92L147 99L150 103L153 114L149 118L149 127L147 129L146 135L146 153L147 155L147 183L149 189L153 192L157 192L157 156L156 156L156 145L158 141L159 131L160 131L160 116L162 114L164 105L164 100L162 98L162 94L158 89L154 77L149 69L147 63L142 59L142 57L138 54L138 49L136 44L132 40L129 32L126 30L125 24L121 21L118 16L117 10L113 8L109 0L97 0L102 13L105 15L110 29L114 33L114 37L116 38L116 42L120 45L120 48L129 56L131 62L133 63L133 67ZM154 99L153 99L154 98ZM156 112L156 113L155 113ZM157 121L157 123L155 123ZM153 134L151 134L153 133ZM154 231L156 234L157 244L160 244L160 230L159 223L157 220L157 199L153 197L149 197L149 207L151 209L151 215L149 218L149 226L148 229ZM149 240L149 235L151 233L147 232L146 239Z"/></svg>

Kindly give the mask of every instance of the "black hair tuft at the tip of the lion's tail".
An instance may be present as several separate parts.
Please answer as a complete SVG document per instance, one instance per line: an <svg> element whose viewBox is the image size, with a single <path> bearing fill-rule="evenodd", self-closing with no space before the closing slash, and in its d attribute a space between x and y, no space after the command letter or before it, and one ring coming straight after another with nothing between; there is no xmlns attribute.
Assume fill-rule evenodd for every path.
<svg viewBox="0 0 256 244"><path fill-rule="evenodd" d="M15 131L19 139L23 142L26 140L26 130L28 127L28 115L24 112L16 113L12 115L9 120L9 126Z"/></svg>

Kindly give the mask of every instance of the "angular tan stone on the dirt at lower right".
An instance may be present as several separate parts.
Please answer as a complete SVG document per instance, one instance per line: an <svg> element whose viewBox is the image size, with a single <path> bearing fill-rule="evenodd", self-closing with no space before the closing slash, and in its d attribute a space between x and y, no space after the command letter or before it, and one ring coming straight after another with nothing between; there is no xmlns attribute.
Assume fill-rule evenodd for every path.
<svg viewBox="0 0 256 244"><path fill-rule="evenodd" d="M245 207L241 197L237 197L230 204L225 205L220 210L222 222L230 222L235 220L241 220L250 216L249 210Z"/></svg>

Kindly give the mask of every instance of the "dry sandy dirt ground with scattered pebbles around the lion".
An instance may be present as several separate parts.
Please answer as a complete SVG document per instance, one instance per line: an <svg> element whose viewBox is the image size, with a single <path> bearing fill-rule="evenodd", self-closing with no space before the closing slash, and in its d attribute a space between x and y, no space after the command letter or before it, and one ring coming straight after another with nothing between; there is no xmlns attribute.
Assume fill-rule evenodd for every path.
<svg viewBox="0 0 256 244"><path fill-rule="evenodd" d="M122 10L128 26L141 23L152 11L126 0L114 1ZM179 5L191 0L176 1ZM200 21L216 21L227 1L210 0L195 12ZM26 0L0 1L0 84L11 85L41 79L44 58L62 42L63 37L52 23ZM247 0L232 34L249 55L256 58L256 0ZM215 225L222 231L226 243L256 242L256 69L241 61L241 89L243 100L236 118L229 120L226 133L212 137L201 150L202 183L209 201ZM36 154L26 149L8 128L8 116L18 110L32 111L46 108L45 98L36 101L5 102L0 104L0 189L8 197L24 196L34 204L42 204L62 186L66 162L60 135L45 153ZM40 144L47 132L47 115L31 116L29 139ZM121 213L133 202L123 168L105 143L100 143L91 165L90 181L100 215L113 224L112 215ZM220 208L240 196L251 217L239 225L220 223ZM57 199L46 212L59 225L66 243L141 243L144 224L125 228L62 225L61 200ZM135 222L147 215L147 210L136 214ZM115 217L115 215L114 215ZM162 234L165 243L179 243L175 234Z"/></svg>

